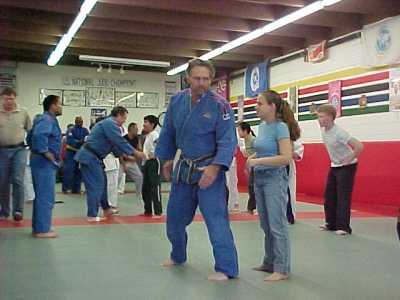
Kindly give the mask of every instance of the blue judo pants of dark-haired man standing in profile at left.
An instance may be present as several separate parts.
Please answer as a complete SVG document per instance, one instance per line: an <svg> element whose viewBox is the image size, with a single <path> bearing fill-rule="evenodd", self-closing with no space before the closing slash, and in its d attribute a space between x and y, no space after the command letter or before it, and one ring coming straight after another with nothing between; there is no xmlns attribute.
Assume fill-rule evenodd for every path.
<svg viewBox="0 0 400 300"><path fill-rule="evenodd" d="M51 230L51 212L55 201L57 167L42 155L32 154L33 201L32 231L46 233Z"/></svg>

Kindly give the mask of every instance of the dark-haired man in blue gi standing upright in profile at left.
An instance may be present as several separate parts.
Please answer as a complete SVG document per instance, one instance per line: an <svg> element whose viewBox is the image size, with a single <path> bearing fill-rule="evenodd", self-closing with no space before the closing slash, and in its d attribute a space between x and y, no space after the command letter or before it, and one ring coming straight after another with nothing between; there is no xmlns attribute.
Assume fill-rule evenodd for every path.
<svg viewBox="0 0 400 300"><path fill-rule="evenodd" d="M43 101L43 111L33 121L27 137L35 190L32 234L36 238L55 238L57 234L51 230L51 211L61 150L61 129L57 120L57 116L62 114L61 99L54 95L47 96Z"/></svg>

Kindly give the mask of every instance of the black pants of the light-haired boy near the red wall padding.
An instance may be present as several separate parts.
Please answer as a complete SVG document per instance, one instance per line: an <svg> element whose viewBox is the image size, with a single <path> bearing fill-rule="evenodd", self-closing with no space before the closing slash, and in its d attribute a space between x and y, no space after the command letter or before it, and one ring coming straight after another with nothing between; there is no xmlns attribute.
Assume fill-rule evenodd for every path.
<svg viewBox="0 0 400 300"><path fill-rule="evenodd" d="M325 220L329 230L351 233L351 193L357 164L331 167L325 188Z"/></svg>

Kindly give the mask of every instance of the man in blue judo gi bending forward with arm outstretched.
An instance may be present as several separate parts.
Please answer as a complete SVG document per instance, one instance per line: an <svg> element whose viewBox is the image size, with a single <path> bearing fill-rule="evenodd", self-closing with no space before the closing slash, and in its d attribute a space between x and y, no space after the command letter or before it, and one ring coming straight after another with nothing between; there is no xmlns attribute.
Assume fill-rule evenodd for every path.
<svg viewBox="0 0 400 300"><path fill-rule="evenodd" d="M103 159L111 152L116 157L133 155L139 159L144 158L142 152L134 149L122 137L121 126L127 117L126 108L114 107L110 117L96 123L85 144L75 155L74 159L81 165L82 179L86 188L89 222L102 220L97 216L100 205L103 208L104 217L113 213L107 201L107 179Z"/></svg>

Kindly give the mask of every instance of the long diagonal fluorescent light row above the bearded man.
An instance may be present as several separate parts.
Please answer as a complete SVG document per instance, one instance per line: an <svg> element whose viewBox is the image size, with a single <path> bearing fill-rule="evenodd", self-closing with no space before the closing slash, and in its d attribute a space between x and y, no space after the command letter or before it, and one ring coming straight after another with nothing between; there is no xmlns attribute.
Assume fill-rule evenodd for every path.
<svg viewBox="0 0 400 300"><path fill-rule="evenodd" d="M307 6L304 6L303 8L300 8L280 19L277 19L276 21L268 23L267 25L265 25L261 28L258 28L249 33L246 33L246 34L240 36L239 38L222 45L219 48L216 48L214 50L211 50L210 52L203 54L202 56L200 56L200 59L202 59L202 60L212 59L218 55L223 54L224 52L228 52L228 51L230 51L234 48L237 48L243 44L246 44L256 38L259 38L266 33L269 33L269 32L275 31L279 28L282 28L290 23L293 23L293 22L300 20L308 15L311 15L311 14L323 9L326 6L336 4L340 1L342 1L342 0L319 0L319 1L313 2L313 3L311 3ZM177 68L169 70L167 72L167 75L178 74L182 71L185 71L187 67L188 67L188 64L186 63Z"/></svg>

